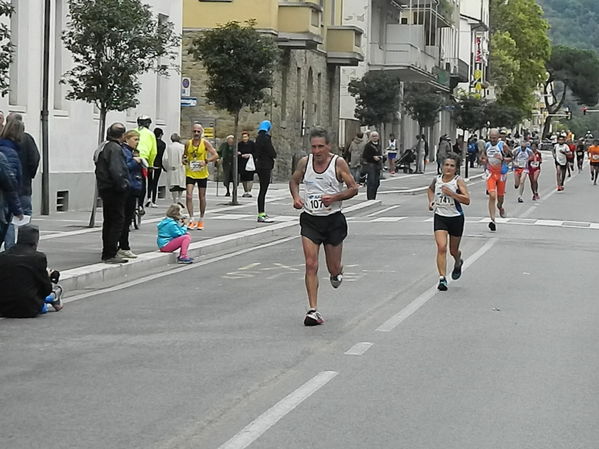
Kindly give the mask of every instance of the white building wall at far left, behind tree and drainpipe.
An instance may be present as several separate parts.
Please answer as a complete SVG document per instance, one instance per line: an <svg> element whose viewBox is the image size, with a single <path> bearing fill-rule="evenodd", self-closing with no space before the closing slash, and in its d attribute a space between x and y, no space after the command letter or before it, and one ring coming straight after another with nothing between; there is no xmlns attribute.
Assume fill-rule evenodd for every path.
<svg viewBox="0 0 599 449"><path fill-rule="evenodd" d="M23 115L27 132L36 140L40 153L42 107L43 8L38 0L13 0L17 14L11 25L17 30L16 64L11 70L11 93L0 98L0 110ZM154 14L163 14L182 29L182 2L146 0ZM52 1L50 92L49 92L49 166L50 212L56 211L57 192L68 192L70 210L89 209L95 185L93 152L97 146L99 113L94 105L65 99L68 87L60 85L62 74L69 70L72 59L60 40L67 23L67 0ZM180 53L180 50L179 50ZM177 62L178 66L179 63ZM134 111L109 112L107 123L124 122L127 128L137 126L138 115L152 117L152 128L161 127L168 139L179 130L180 75L172 72L168 79L148 73L140 78L140 105ZM33 208L41 207L41 167L34 179Z"/></svg>

